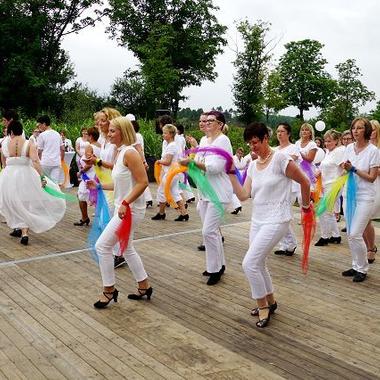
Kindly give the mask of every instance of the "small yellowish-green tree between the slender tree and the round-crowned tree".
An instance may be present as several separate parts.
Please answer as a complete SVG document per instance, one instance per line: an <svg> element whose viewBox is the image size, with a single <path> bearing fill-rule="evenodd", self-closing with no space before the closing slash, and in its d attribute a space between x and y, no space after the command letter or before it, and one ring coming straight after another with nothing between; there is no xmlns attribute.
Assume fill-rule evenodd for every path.
<svg viewBox="0 0 380 380"><path fill-rule="evenodd" d="M287 103L283 94L280 92L281 76L277 70L271 71L265 80L264 85L264 110L266 122L269 122L271 113L277 114L286 108Z"/></svg>

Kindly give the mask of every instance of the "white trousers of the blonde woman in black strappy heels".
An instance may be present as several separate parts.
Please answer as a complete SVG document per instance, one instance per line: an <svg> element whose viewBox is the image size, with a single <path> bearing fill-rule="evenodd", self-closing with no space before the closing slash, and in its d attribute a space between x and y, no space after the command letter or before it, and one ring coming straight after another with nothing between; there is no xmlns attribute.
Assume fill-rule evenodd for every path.
<svg viewBox="0 0 380 380"><path fill-rule="evenodd" d="M143 281L148 277L141 258L133 246L134 231L139 223L144 219L144 215L144 212L132 213L131 234L129 236L128 246L123 252L123 256L136 282ZM116 230L118 229L120 223L121 219L119 216L117 214L114 215L95 244L96 253L99 257L99 268L100 274L102 276L103 286L115 285L113 249L114 246L118 243Z"/></svg>

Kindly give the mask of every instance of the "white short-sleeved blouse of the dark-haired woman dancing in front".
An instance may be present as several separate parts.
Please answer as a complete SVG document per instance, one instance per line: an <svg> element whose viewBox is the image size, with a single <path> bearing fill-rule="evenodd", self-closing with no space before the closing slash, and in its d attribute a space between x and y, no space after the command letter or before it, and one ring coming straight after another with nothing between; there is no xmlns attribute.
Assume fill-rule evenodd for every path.
<svg viewBox="0 0 380 380"><path fill-rule="evenodd" d="M289 161L290 156L277 150L265 169L257 168L257 160L250 164L253 222L276 224L292 219L292 180L285 175Z"/></svg>

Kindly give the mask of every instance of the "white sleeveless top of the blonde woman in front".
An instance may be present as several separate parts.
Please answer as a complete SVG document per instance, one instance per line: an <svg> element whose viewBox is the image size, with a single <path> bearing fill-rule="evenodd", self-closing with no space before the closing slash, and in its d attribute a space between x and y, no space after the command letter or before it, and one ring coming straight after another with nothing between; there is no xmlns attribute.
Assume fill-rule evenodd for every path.
<svg viewBox="0 0 380 380"><path fill-rule="evenodd" d="M127 150L136 149L129 145L122 145L118 150L118 156L116 158L114 167L112 169L112 179L114 183L114 197L115 197L115 212L120 207L123 200L128 196L132 191L132 188L135 186L136 182L132 177L132 173L128 167L124 165L124 154ZM133 203L130 204L132 211L134 212L144 212L145 213L145 199L144 194L141 194Z"/></svg>

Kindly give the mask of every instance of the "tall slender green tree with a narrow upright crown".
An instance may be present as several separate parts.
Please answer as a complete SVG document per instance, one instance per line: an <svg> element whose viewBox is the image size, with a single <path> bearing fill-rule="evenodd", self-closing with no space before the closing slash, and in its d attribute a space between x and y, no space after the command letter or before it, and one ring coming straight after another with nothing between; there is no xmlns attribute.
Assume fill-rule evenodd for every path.
<svg viewBox="0 0 380 380"><path fill-rule="evenodd" d="M244 49L237 53L234 65L233 95L238 118L248 123L263 113L264 79L271 59L266 36L269 24L259 21L251 25L247 20L238 24Z"/></svg>

